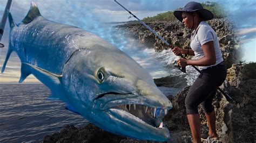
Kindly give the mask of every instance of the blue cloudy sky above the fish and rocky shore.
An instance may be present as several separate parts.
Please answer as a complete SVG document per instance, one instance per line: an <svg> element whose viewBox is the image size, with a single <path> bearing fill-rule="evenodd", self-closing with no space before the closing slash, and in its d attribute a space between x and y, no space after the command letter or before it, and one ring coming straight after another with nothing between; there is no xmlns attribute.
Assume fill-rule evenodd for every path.
<svg viewBox="0 0 256 143"><path fill-rule="evenodd" d="M84 30L91 31L105 38L104 23L125 22L136 20L128 18L130 16L113 0L35 0L41 15L54 22L81 27ZM182 8L187 0L119 0L138 18L152 17L157 13L173 11ZM197 2L206 2L199 0ZM228 11L230 19L237 25L236 30L241 38L241 48L244 51L244 57L241 60L246 62L256 62L256 1L254 0L212 0L218 2ZM7 0L0 0L0 18ZM22 21L30 9L31 1L12 0L10 12L16 23ZM6 51L8 50L8 35L10 32L7 22L4 29L4 35L1 43L5 45L0 49L0 68L2 68ZM8 61L4 74L0 74L0 83L17 82L20 75L20 61L17 54L12 53ZM38 82L35 77L29 76L26 82Z"/></svg>

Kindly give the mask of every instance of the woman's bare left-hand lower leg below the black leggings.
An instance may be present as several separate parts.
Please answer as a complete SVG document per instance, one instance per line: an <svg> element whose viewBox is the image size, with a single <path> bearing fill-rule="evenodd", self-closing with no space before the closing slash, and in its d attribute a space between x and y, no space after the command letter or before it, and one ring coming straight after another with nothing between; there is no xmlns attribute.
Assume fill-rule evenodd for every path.
<svg viewBox="0 0 256 143"><path fill-rule="evenodd" d="M201 142L201 120L198 114L187 115L193 142Z"/></svg>

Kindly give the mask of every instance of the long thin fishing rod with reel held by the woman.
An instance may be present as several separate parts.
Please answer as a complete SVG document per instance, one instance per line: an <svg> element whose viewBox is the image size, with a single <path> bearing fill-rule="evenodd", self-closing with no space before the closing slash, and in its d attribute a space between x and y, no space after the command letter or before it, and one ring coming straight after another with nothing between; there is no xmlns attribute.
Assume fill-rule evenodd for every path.
<svg viewBox="0 0 256 143"><path fill-rule="evenodd" d="M165 42L165 44L167 46L169 46L171 49L173 49L174 47L169 44L169 42L167 42L166 40L164 40L163 37L161 37L159 34L156 33L156 31L152 30L152 28L150 28L149 26L147 26L142 20L140 20L138 17L136 17L135 15L133 15L133 13L129 10L127 10L122 4L118 3L117 0L114 0L114 2L116 2L118 5L120 5L123 9L125 9L127 12L130 13L130 15L132 15L134 18L136 18L141 24L143 24L144 26L147 27L147 29L149 29L152 33L154 33L159 39L161 39L163 42ZM182 54L179 55L181 58L186 59ZM192 65L191 65L192 66ZM180 66L176 66L178 67L181 71L183 71L183 73L186 73L186 68L182 68ZM194 69L196 69L199 73L201 73L201 71L196 67L196 66L192 66ZM233 100L232 97L230 97L229 95L227 95L223 90L221 90L219 87L217 88L227 99L227 101L231 101Z"/></svg>

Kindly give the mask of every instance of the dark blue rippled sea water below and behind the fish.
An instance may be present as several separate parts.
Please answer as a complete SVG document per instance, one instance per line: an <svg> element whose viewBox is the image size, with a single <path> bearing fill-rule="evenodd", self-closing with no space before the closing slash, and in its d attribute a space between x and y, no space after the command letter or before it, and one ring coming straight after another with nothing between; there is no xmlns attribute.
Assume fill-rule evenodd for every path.
<svg viewBox="0 0 256 143"><path fill-rule="evenodd" d="M165 95L180 91L159 89ZM0 142L40 141L66 125L81 127L89 123L65 110L65 103L47 99L50 94L44 84L0 84Z"/></svg>

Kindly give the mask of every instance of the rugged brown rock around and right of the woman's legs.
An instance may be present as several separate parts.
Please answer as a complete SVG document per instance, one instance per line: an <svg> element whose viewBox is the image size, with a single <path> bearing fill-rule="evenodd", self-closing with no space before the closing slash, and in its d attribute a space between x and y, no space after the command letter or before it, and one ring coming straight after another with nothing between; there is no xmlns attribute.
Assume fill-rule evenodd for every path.
<svg viewBox="0 0 256 143"><path fill-rule="evenodd" d="M217 116L217 132L220 141L223 142L253 142L256 127L256 63L246 65L233 64L228 69L226 81L221 86L233 100L228 102L226 98L218 92L213 100L213 106ZM189 131L185 97L189 87L186 87L173 99L173 109L164 118L165 124L169 126L170 132ZM203 109L199 106L201 118L202 136L207 137L207 121ZM183 127L180 127L182 125ZM187 126L185 126L187 125Z"/></svg>

